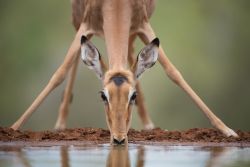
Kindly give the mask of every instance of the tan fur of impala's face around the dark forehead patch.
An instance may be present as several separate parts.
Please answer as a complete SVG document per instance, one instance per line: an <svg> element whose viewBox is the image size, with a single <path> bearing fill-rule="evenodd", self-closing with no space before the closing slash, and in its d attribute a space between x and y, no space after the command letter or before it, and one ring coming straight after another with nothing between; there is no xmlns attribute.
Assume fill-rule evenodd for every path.
<svg viewBox="0 0 250 167"><path fill-rule="evenodd" d="M127 80L122 85L117 86L112 81L114 76L124 76ZM109 92L109 103L105 104L105 111L111 139L114 137L126 139L130 128L132 109L128 94L135 85L133 74L129 70L110 70L105 74L103 85Z"/></svg>

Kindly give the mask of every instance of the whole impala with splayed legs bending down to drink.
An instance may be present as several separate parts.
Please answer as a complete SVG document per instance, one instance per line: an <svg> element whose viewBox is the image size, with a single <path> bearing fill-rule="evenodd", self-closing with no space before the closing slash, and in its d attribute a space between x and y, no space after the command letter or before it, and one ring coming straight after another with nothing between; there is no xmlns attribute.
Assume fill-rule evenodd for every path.
<svg viewBox="0 0 250 167"><path fill-rule="evenodd" d="M232 129L213 114L165 55L149 23L155 7L154 0L71 0L71 4L73 25L77 31L75 38L63 63L31 106L12 125L13 129L20 128L51 91L63 82L71 70L55 125L56 129L66 127L76 68L81 57L86 66L93 70L102 82L103 89L100 96L105 106L111 143L127 143L131 108L135 101L144 128L154 127L147 114L138 79L157 60L167 76L191 97L215 128L226 136L237 137ZM90 41L93 35L105 39L108 68L99 51ZM145 47L134 59L133 43L136 37L145 43Z"/></svg>

